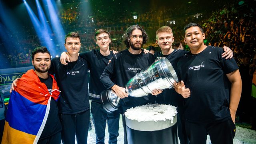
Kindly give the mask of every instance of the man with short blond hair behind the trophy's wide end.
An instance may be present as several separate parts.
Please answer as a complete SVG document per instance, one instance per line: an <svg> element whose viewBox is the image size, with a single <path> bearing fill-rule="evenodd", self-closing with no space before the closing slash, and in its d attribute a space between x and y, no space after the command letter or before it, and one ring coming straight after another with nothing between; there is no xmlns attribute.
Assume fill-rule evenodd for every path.
<svg viewBox="0 0 256 144"><path fill-rule="evenodd" d="M156 44L161 48L161 52L156 52L156 57L166 57L172 64L174 70L177 70L178 60L182 56L188 53L185 50L173 49L172 44L174 42L174 36L172 29L169 26L162 26L156 31ZM232 51L230 48L224 47L224 52L222 57L232 58ZM186 136L184 127L184 98L180 96L174 89L164 90L161 94L156 97L156 102L158 104L170 104L177 107L177 127L178 127L178 137L181 144L188 144L189 140Z"/></svg>

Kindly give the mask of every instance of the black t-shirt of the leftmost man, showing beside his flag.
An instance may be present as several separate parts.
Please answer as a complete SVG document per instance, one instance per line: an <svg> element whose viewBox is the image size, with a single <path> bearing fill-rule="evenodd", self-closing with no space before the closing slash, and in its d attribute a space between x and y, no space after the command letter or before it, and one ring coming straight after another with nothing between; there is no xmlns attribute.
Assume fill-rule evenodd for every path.
<svg viewBox="0 0 256 144"><path fill-rule="evenodd" d="M48 76L48 78L46 79L40 78L40 77L38 78L42 83L44 83L47 86L49 93L52 92L52 81L53 81L52 76ZM50 111L48 114L48 118L46 120L46 124L44 126L44 130L40 136L40 139L47 138L60 131L61 131L61 124L58 116L58 105L57 105L57 102L53 98L51 98Z"/></svg>

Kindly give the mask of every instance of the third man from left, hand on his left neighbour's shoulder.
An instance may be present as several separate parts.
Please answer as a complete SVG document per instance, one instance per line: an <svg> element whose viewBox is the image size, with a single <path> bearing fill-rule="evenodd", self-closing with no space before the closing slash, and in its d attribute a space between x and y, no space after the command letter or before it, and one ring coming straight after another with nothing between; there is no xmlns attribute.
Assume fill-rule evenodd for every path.
<svg viewBox="0 0 256 144"><path fill-rule="evenodd" d="M106 122L108 123L109 144L116 144L119 129L120 114L118 111L109 113L104 110L100 102L100 93L106 88L100 82L100 75L108 65L108 61L114 56L109 50L110 33L99 29L95 32L95 42L100 49L82 52L79 56L88 62L90 70L89 99L91 102L92 121L96 133L96 144L104 144ZM69 57L63 52L60 60L62 64L67 64Z"/></svg>

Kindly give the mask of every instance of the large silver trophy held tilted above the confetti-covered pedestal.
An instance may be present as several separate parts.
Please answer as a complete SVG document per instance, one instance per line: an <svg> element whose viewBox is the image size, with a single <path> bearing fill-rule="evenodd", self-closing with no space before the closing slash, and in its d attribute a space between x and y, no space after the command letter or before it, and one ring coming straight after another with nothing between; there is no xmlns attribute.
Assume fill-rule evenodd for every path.
<svg viewBox="0 0 256 144"><path fill-rule="evenodd" d="M125 92L129 96L138 98L152 94L154 89L174 88L175 82L178 82L178 77L172 64L167 58L160 57L146 70L142 70L131 78L126 84ZM107 112L118 110L120 98L113 90L104 90L100 98Z"/></svg>

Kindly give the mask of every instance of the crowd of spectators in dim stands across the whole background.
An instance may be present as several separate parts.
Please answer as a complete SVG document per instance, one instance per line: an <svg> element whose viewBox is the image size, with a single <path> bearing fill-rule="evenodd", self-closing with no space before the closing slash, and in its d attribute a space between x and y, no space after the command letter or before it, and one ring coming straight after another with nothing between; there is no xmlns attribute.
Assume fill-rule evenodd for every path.
<svg viewBox="0 0 256 144"><path fill-rule="evenodd" d="M184 7L186 5L180 5L179 9L182 8L182 6ZM182 14L188 11L188 7L189 6L187 6L187 8L184 7L184 12L182 12ZM104 12L101 12L98 10L98 8L95 8L91 12L82 12L79 3L70 3L66 4L66 6L60 10L58 15L66 32L77 31L80 33L79 30L86 28L92 29L91 33L80 33L82 37L82 52L97 48L94 40L95 30L98 28L106 28L112 25L120 27L118 30L109 30L112 38L110 49L113 50L120 51L124 49L121 38L122 33L126 27L131 24L142 25L150 36L150 43L155 41L155 31L160 27L160 23L165 22L166 25L172 28L175 41L183 42L183 27L186 22L189 21L184 20L184 22L171 25L166 22L168 17L178 17L182 15L179 13L180 11L178 10L178 7L174 9L148 9L147 11L140 11L136 13L132 13L132 10L120 10L120 12L114 12L115 10L116 9L109 9L108 13L117 13L116 16L109 16L108 14L104 14ZM216 12L213 12L212 16L210 18L206 18L206 20L204 20L202 23L205 28L207 44L210 43L211 45L214 45L217 43L218 46L230 46L230 48L232 48L232 50L238 56L238 59L241 60L238 53L244 49L244 46L248 48L248 46L253 45L253 43L249 43L248 40L255 38L255 36L252 34L252 31L255 31L255 20L252 18L254 12L250 11L251 10L246 6L237 10L234 5L230 5L229 7L224 6L221 10L216 10ZM137 19L133 19L133 15L136 15ZM148 24L152 22L156 23L156 25L151 26ZM24 29L28 31L28 33L34 31L33 28ZM34 37L34 39L37 39L36 36ZM38 42L38 40L34 41ZM20 46L25 49L34 48L32 45L36 46L39 44L28 44L27 42L20 44ZM28 55L29 51L22 50L18 52L20 48L16 49L17 52L12 52L9 54L12 56L12 60L26 60L26 56ZM250 50L253 51L252 49Z"/></svg>

